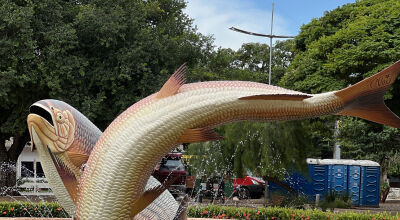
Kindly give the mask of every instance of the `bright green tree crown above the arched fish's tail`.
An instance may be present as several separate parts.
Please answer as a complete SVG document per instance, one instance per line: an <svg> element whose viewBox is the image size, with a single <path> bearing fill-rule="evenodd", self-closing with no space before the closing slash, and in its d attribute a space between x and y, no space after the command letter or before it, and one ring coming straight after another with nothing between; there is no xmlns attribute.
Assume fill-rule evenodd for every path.
<svg viewBox="0 0 400 220"><path fill-rule="evenodd" d="M281 84L303 92L332 91L397 61L399 9L396 0L357 1L303 25L295 39L297 55Z"/></svg>

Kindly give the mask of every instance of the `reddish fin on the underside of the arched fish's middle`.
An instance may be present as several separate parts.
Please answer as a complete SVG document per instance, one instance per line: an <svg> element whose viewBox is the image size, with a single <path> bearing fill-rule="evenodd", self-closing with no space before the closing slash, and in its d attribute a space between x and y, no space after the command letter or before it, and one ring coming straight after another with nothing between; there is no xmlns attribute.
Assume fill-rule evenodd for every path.
<svg viewBox="0 0 400 220"><path fill-rule="evenodd" d="M204 128L191 128L187 129L185 133L178 139L177 143L195 143L195 142L205 142L219 140L223 137L215 132L214 129L210 127Z"/></svg>

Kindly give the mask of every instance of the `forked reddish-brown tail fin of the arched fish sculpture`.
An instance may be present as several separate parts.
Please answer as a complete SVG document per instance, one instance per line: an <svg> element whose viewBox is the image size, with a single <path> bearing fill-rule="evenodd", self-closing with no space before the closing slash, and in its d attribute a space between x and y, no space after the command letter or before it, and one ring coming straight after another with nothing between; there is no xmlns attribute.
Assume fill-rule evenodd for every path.
<svg viewBox="0 0 400 220"><path fill-rule="evenodd" d="M400 129L400 118L383 101L383 95L399 73L400 60L353 86L335 92L344 103L338 115L359 117Z"/></svg>

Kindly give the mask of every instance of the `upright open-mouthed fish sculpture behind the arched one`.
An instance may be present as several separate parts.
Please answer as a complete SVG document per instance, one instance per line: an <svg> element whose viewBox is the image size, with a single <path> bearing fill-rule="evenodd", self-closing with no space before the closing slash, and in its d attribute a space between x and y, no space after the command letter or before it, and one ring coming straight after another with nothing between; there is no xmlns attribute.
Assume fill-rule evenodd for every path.
<svg viewBox="0 0 400 220"><path fill-rule="evenodd" d="M36 146L46 178L59 203L74 216L82 166L102 132L78 110L62 101L41 100L29 110L27 121L32 147ZM158 180L150 177L146 189L164 189L160 186ZM177 211L177 202L165 191L135 219L173 218Z"/></svg>

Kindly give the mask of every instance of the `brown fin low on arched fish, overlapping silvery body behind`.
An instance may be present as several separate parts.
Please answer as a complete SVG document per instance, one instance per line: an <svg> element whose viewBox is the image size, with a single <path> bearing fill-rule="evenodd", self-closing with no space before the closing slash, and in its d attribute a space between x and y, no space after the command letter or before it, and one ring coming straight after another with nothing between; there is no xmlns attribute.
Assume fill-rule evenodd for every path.
<svg viewBox="0 0 400 220"><path fill-rule="evenodd" d="M149 206L155 199L157 199L158 196L160 196L166 189L168 189L178 177L179 176L172 177L163 184L143 192L139 199L137 199L135 203L132 204L130 219L132 219L135 215L137 215L139 212Z"/></svg>

